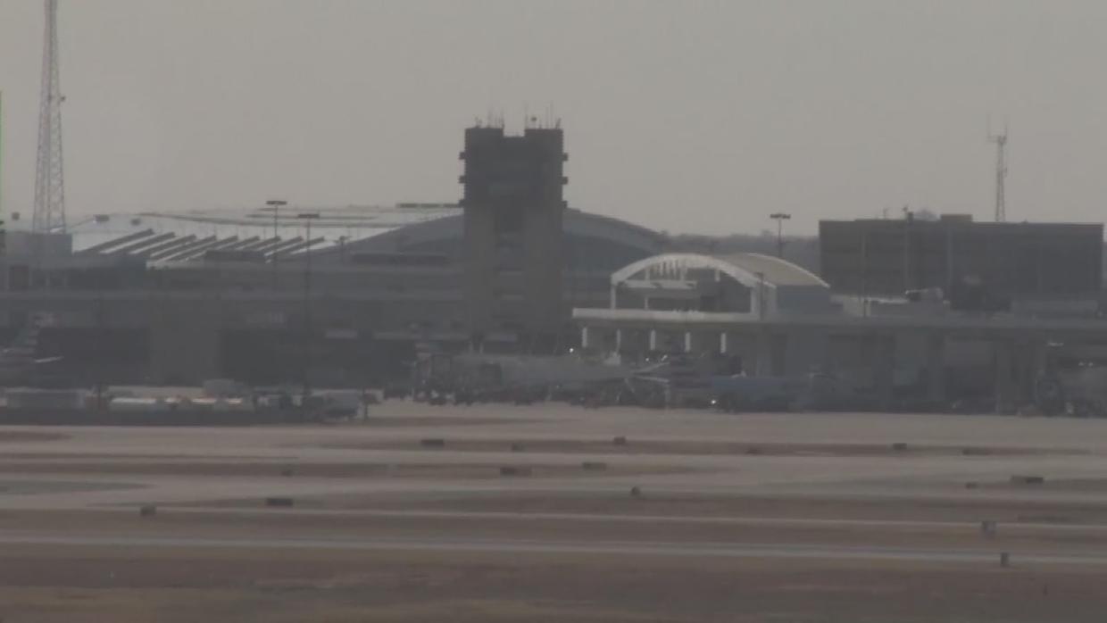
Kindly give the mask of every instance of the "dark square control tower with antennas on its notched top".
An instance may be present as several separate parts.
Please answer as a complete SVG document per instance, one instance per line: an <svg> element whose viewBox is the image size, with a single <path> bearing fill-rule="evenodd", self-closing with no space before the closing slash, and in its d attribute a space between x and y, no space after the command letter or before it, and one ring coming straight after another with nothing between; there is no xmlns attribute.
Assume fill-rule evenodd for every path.
<svg viewBox="0 0 1107 623"><path fill-rule="evenodd" d="M551 352L563 333L560 127L465 131L465 305L478 347ZM514 342L514 345L510 343Z"/></svg>

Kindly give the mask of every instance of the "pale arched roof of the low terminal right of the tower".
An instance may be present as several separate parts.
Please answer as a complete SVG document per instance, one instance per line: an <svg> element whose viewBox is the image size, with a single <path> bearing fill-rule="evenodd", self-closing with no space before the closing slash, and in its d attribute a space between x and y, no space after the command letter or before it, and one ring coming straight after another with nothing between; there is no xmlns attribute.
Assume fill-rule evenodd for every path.
<svg viewBox="0 0 1107 623"><path fill-rule="evenodd" d="M763 282L769 287L829 288L826 281L805 268L787 260L763 253L730 253L706 256L702 253L662 253L633 262L615 271L611 283L618 284L646 273L644 279L684 279L690 269L718 270L743 285L753 288Z"/></svg>

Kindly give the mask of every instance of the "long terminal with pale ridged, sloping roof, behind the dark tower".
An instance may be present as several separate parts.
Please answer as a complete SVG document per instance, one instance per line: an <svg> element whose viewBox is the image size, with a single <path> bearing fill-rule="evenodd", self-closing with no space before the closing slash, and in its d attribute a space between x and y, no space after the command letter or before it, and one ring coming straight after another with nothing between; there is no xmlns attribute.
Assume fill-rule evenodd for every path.
<svg viewBox="0 0 1107 623"><path fill-rule="evenodd" d="M10 231L2 320L10 334L45 312L43 347L74 368L104 362L115 382L276 383L310 366L319 383L345 384L385 374L421 342L469 347L462 207L282 212L100 215L64 235ZM570 208L561 227L565 318L602 304L613 270L661 248L648 229ZM521 328L497 318L479 345L524 347Z"/></svg>

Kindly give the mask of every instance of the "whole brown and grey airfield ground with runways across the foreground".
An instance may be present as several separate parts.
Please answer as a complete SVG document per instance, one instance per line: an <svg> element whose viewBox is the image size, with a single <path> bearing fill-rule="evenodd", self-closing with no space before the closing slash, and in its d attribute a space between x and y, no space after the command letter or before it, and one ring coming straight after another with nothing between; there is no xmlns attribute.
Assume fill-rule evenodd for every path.
<svg viewBox="0 0 1107 623"><path fill-rule="evenodd" d="M8 427L0 621L1099 622L1105 482L1092 420Z"/></svg>

